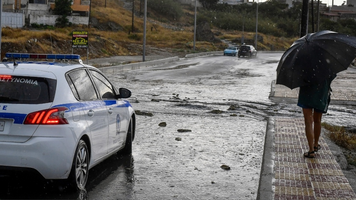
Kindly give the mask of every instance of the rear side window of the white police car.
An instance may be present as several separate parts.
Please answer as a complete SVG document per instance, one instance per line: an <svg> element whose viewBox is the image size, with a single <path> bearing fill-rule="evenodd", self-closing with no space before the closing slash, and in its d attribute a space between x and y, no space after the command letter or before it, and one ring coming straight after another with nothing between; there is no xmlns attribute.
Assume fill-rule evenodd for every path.
<svg viewBox="0 0 356 200"><path fill-rule="evenodd" d="M66 75L70 89L78 100L98 99L93 83L85 69L72 71Z"/></svg>

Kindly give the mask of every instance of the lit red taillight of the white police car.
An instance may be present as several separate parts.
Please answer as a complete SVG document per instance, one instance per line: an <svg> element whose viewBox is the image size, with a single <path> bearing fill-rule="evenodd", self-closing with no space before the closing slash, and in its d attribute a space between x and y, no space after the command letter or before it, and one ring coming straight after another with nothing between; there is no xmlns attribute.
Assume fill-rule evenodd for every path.
<svg viewBox="0 0 356 200"><path fill-rule="evenodd" d="M67 107L54 107L46 110L31 112L26 116L23 124L31 125L62 125L69 124L64 118L64 112L69 110Z"/></svg>

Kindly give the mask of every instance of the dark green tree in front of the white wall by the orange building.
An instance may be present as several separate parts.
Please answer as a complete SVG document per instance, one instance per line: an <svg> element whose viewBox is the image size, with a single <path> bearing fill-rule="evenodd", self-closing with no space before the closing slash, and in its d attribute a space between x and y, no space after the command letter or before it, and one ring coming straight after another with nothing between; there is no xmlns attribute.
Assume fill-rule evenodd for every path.
<svg viewBox="0 0 356 200"><path fill-rule="evenodd" d="M54 4L54 15L60 15L60 17L56 19L56 26L65 27L72 25L67 19L67 16L70 16L72 13L72 0L55 0Z"/></svg>

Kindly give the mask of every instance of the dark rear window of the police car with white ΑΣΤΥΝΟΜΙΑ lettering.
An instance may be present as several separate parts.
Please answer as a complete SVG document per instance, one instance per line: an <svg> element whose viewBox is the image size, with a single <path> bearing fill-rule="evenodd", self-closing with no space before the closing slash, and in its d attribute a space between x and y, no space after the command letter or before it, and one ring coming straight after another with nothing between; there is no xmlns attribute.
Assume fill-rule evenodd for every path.
<svg viewBox="0 0 356 200"><path fill-rule="evenodd" d="M42 77L0 76L0 102L45 104L53 102L57 81Z"/></svg>

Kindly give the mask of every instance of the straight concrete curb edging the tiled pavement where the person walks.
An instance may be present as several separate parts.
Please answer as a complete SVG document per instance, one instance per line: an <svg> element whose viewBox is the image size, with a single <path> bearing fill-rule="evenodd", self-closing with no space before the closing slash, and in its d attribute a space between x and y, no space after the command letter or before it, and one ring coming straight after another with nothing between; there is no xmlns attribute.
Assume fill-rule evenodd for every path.
<svg viewBox="0 0 356 200"><path fill-rule="evenodd" d="M272 200L274 176L274 118L270 117L266 126L265 146L263 147L256 200Z"/></svg>

